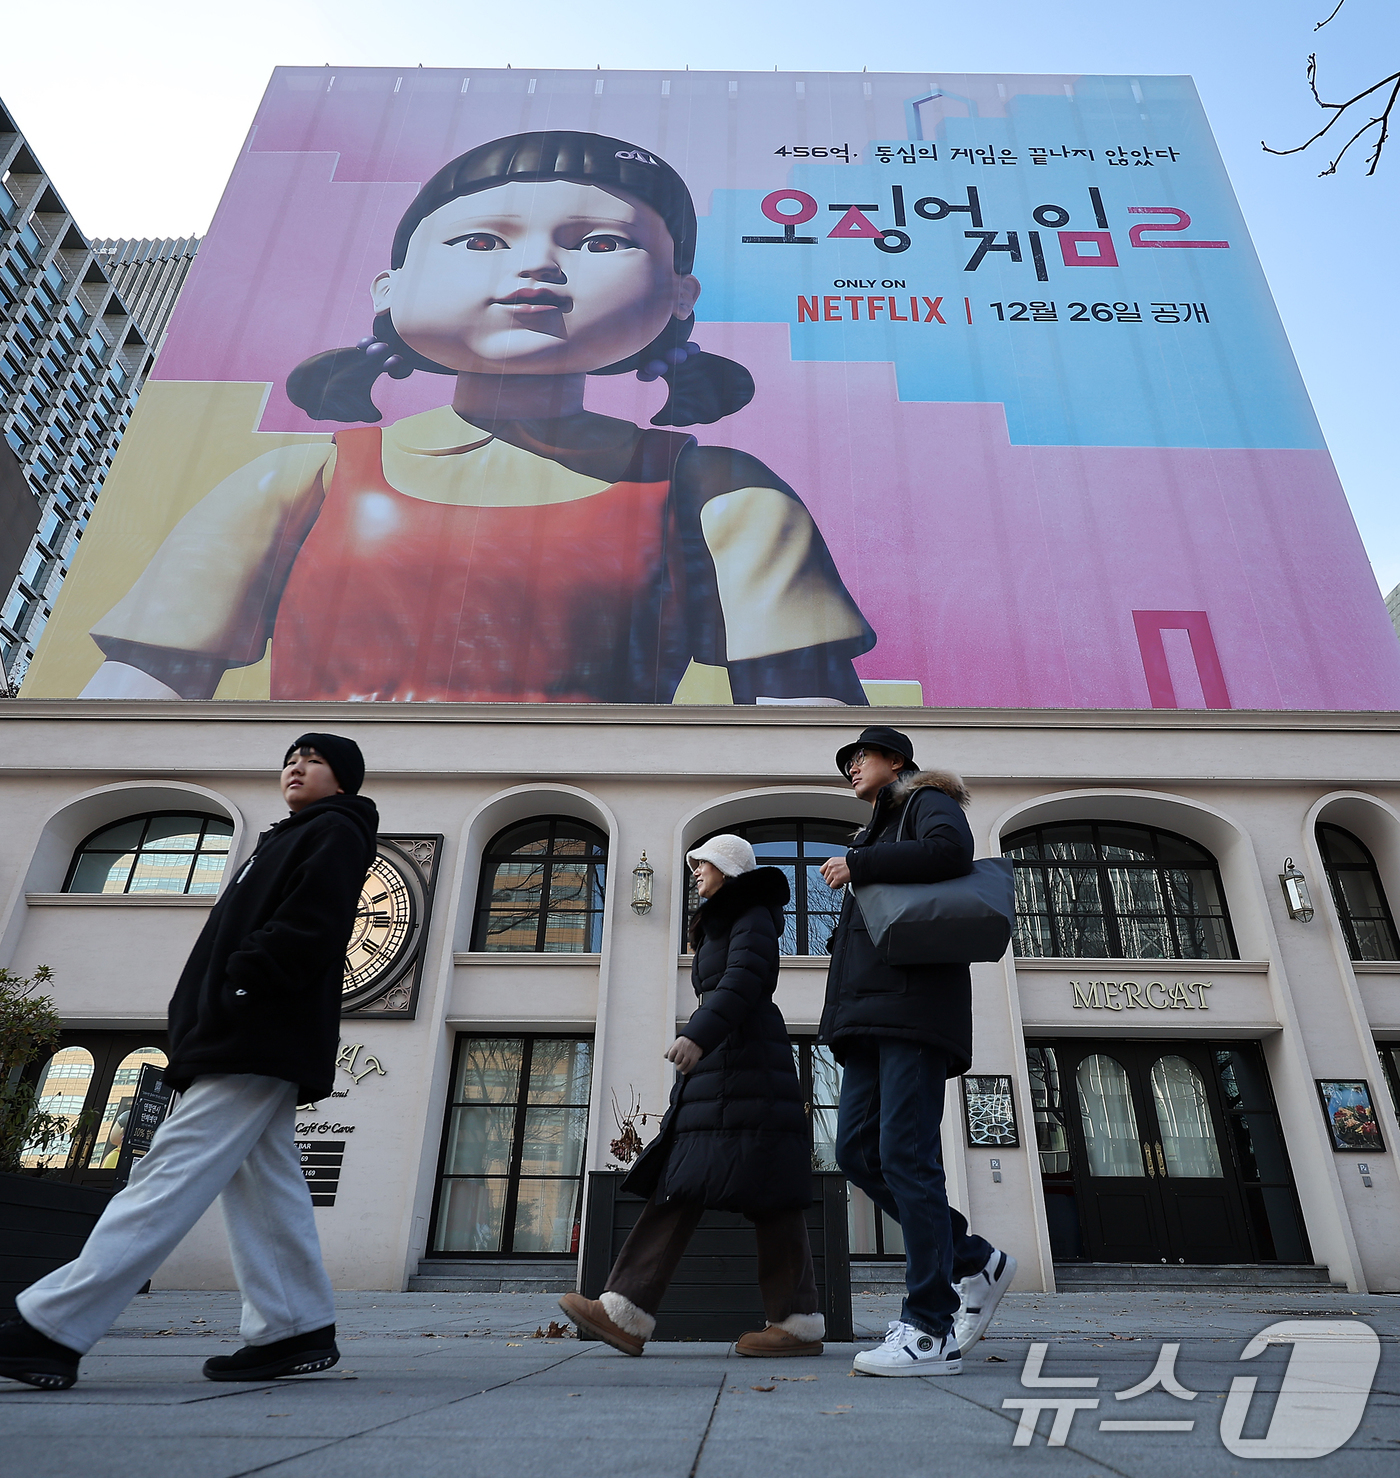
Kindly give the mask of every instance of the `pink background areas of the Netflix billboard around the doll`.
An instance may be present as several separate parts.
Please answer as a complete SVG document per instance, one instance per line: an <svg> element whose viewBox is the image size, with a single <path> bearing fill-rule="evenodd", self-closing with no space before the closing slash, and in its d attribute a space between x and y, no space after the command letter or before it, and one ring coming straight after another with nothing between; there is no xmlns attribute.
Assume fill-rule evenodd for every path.
<svg viewBox="0 0 1400 1478"><path fill-rule="evenodd" d="M334 429L287 401L288 370L368 333L370 281L420 182L489 137L581 127L655 149L689 183L702 241L714 191L788 183L784 160L733 157L720 127L658 121L650 74L602 96L591 72L538 95L522 72L466 90L463 75L279 69L154 378L268 381L260 430ZM581 78L578 96L557 78ZM995 112L996 78L954 81ZM831 133L897 139L927 87L852 89ZM1400 643L1326 451L1013 445L1001 403L900 401L890 364L800 362L786 322L699 318L693 337L745 364L757 395L693 430L761 458L810 508L878 634L862 678L918 681L927 706L1400 706ZM418 374L376 396L387 424L449 392ZM630 375L588 383L590 409L637 421L662 398Z"/></svg>

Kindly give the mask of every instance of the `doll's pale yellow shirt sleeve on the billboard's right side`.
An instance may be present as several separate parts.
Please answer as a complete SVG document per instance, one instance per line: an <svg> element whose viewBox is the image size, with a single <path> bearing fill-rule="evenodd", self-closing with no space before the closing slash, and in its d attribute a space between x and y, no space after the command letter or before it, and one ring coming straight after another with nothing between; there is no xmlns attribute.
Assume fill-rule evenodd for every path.
<svg viewBox="0 0 1400 1478"><path fill-rule="evenodd" d="M724 613L726 658L868 640L812 514L776 488L736 488L701 508Z"/></svg>

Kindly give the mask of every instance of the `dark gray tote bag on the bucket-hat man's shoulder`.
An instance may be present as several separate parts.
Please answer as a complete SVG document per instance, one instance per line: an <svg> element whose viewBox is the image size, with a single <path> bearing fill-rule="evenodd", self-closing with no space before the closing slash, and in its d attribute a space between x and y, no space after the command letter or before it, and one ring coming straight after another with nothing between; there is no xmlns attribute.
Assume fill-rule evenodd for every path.
<svg viewBox="0 0 1400 1478"><path fill-rule="evenodd" d="M906 807L899 838L908 814ZM886 965L970 965L1001 959L1011 943L1016 882L1008 857L979 857L970 873L946 882L865 882L852 893Z"/></svg>

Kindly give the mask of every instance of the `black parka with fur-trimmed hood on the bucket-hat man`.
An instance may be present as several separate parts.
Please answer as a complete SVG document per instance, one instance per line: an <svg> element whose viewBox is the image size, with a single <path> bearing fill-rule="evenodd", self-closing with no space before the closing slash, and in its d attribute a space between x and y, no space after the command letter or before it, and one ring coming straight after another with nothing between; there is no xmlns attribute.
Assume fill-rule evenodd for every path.
<svg viewBox="0 0 1400 1478"><path fill-rule="evenodd" d="M943 882L973 871L967 792L946 772L920 770L884 786L871 823L846 854L852 882ZM896 841L908 808L903 840ZM973 980L967 965L884 965L847 890L831 940L819 1042L837 1058L859 1036L927 1042L949 1057L949 1073L973 1061Z"/></svg>

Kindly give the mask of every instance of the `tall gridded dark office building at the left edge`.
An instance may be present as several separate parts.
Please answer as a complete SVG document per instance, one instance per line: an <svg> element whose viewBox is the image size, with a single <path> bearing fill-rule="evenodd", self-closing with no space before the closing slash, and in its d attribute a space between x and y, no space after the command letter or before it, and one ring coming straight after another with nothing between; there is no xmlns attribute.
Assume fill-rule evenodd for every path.
<svg viewBox="0 0 1400 1478"><path fill-rule="evenodd" d="M4 692L19 687L53 613L154 343L0 105Z"/></svg>

